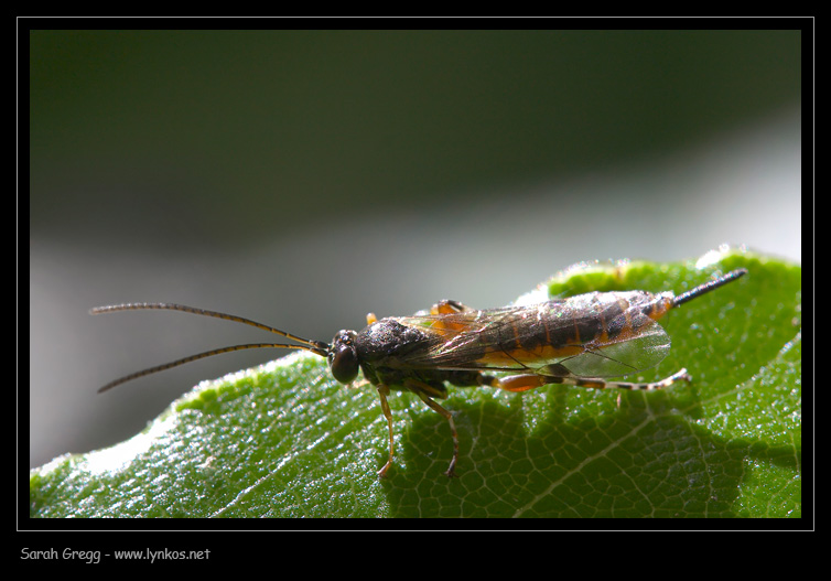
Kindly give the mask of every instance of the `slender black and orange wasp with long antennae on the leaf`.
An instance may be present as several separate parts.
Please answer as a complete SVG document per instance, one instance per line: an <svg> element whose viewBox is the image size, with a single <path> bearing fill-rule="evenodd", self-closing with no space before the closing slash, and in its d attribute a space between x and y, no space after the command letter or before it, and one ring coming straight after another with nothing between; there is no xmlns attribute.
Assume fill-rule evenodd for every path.
<svg viewBox="0 0 831 581"><path fill-rule="evenodd" d="M332 343L310 341L241 316L170 303L127 303L91 309L90 314L141 309L166 309L214 316L256 326L300 343L251 343L212 349L137 372L101 387L106 391L149 374L220 353L251 348L292 348L326 357L334 378L349 385L363 372L375 386L389 426L389 460L378 471L384 477L392 465L395 439L387 402L390 388L414 392L450 424L453 458L445 471L455 476L458 434L453 415L435 402L447 395L445 384L488 386L526 391L547 384L603 389L660 389L690 381L687 369L654 383L607 381L657 365L669 353L670 340L658 319L670 309L732 282L747 273L737 269L676 297L672 292L590 292L530 306L476 310L457 301L441 301L429 314L367 315L360 331L338 331ZM501 373L497 377L488 373Z"/></svg>

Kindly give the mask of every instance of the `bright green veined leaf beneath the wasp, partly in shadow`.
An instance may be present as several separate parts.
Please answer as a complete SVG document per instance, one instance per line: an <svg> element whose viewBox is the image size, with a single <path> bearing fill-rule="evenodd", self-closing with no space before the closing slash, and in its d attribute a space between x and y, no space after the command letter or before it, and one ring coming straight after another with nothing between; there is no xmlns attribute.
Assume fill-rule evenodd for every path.
<svg viewBox="0 0 831 581"><path fill-rule="evenodd" d="M579 265L537 299L591 290L681 293L749 273L671 311L660 391L450 388L447 422L375 388L334 381L295 353L204 381L134 438L30 473L33 517L799 517L801 269L731 250L698 261Z"/></svg>

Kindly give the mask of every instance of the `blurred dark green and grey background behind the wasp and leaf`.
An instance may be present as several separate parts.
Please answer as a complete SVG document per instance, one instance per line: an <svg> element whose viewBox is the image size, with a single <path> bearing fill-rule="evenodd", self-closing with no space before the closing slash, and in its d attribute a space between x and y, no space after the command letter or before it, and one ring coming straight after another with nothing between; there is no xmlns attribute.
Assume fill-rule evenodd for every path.
<svg viewBox="0 0 831 581"><path fill-rule="evenodd" d="M799 31L29 34L32 466L279 355L97 396L270 341L98 304L330 341L369 311L507 304L581 260L801 259Z"/></svg>

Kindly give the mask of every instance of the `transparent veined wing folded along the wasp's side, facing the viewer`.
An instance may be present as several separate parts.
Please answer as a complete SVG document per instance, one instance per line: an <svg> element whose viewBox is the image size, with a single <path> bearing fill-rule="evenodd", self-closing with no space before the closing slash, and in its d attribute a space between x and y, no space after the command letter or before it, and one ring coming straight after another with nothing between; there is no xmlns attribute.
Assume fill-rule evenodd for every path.
<svg viewBox="0 0 831 581"><path fill-rule="evenodd" d="M401 324L419 327L434 338L429 348L408 356L407 365L413 368L619 377L654 367L669 353L670 338L666 331L637 308L626 309L623 313L618 311L617 316L606 321L606 329L624 330L614 338L609 338L608 333L598 333L580 342L563 340L571 336L575 327L596 325L596 319L605 308L603 300L608 302L614 297L598 294L580 302L573 299L531 306L398 318ZM542 319L544 326L540 323ZM541 337L554 337L554 342L547 343ZM535 346L524 348L521 345Z"/></svg>

